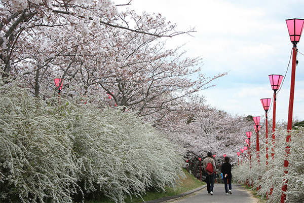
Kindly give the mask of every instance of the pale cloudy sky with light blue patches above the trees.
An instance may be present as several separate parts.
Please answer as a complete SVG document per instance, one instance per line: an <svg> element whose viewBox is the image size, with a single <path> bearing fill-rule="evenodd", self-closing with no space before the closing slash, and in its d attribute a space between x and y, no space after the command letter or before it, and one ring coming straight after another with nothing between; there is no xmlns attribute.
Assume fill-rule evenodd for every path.
<svg viewBox="0 0 304 203"><path fill-rule="evenodd" d="M115 1L120 3L121 1ZM168 45L187 43L187 56L204 58L207 76L229 72L201 91L207 104L233 115L264 116L261 98L273 98L269 75L286 78L277 94L277 121L288 117L292 43L286 19L304 19L302 0L133 0L130 9L138 14L161 13L177 24L177 30L195 27L194 37L168 39ZM303 37L304 38L304 37ZM298 66L293 118L304 120L304 39L297 45ZM287 73L286 73L287 71ZM273 107L269 118L273 117Z"/></svg>

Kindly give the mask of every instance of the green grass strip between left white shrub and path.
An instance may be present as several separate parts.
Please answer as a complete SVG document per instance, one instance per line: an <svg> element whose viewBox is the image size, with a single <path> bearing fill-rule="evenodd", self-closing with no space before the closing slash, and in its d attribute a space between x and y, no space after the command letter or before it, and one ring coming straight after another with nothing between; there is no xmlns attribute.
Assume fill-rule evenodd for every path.
<svg viewBox="0 0 304 203"><path fill-rule="evenodd" d="M190 175L189 173L187 173L185 170L184 170L184 173L186 175L186 178L184 179L181 179L180 180L180 185L177 186L175 188L175 190L173 188L169 188L169 187L166 187L166 192L158 192L158 191L146 191L145 194L142 194L142 198L145 200L145 201L148 201L148 200L153 200L153 199L158 199L158 198L162 198L162 197L166 197L166 196L174 196L174 195L177 195L177 194L180 194L180 193L183 193L183 192L187 192L189 190L193 190L193 189L196 189L198 187L201 187L202 185L205 185L206 183L204 182L201 182L199 181L198 179L196 179L193 175ZM112 203L112 201L110 201L109 199L102 199L102 200L98 200L98 201L85 201L87 203L104 203L104 202L107 202L107 203ZM132 196L132 201L131 201L131 198L128 197L127 199L125 199L125 202L126 203L129 203L129 202L134 202L134 203L138 203L138 202L143 202L142 199L139 197L135 197L135 196Z"/></svg>

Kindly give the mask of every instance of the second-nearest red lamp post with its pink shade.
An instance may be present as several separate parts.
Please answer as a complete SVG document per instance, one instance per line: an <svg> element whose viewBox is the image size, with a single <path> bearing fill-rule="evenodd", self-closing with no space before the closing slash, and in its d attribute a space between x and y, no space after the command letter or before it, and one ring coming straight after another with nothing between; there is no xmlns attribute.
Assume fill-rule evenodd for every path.
<svg viewBox="0 0 304 203"><path fill-rule="evenodd" d="M281 75L269 75L269 80L272 89L274 90L274 110L273 110L273 131L272 131L272 143L275 146L275 129L276 129L276 107L277 107L277 90L280 88L283 76ZM272 159L275 157L274 149L271 153Z"/></svg>

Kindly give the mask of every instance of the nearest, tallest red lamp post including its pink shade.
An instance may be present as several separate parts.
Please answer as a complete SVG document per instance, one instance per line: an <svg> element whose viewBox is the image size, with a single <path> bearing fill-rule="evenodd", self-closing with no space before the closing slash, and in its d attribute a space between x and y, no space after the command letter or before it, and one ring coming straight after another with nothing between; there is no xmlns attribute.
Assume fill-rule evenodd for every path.
<svg viewBox="0 0 304 203"><path fill-rule="evenodd" d="M293 98L294 98L294 83L295 83L295 66L296 66L296 55L297 55L297 48L296 44L300 41L300 37L302 35L303 26L304 26L304 19L288 19L286 20L290 41L293 44L292 48L292 67L291 67L291 82L290 82L290 97L289 97L289 108L288 108L288 120L287 120L287 131L290 132L292 128L292 111L293 111ZM284 168L285 174L288 173L288 154L290 151L290 147L288 143L290 141L290 134L286 137L287 146L285 148L285 160L284 160ZM285 191L287 190L287 180L283 180L282 186L282 195L281 195L281 203L284 203L286 200Z"/></svg>

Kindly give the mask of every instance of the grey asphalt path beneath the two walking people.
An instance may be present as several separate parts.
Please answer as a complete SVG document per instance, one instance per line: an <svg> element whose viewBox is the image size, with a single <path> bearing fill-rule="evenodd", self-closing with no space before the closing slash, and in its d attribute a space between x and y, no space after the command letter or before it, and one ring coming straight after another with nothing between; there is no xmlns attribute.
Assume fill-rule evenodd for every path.
<svg viewBox="0 0 304 203"><path fill-rule="evenodd" d="M185 195L180 198L167 200L171 203L257 203L258 199L241 185L232 185L232 194L226 195L224 184L214 184L213 195L207 194L207 188Z"/></svg>

